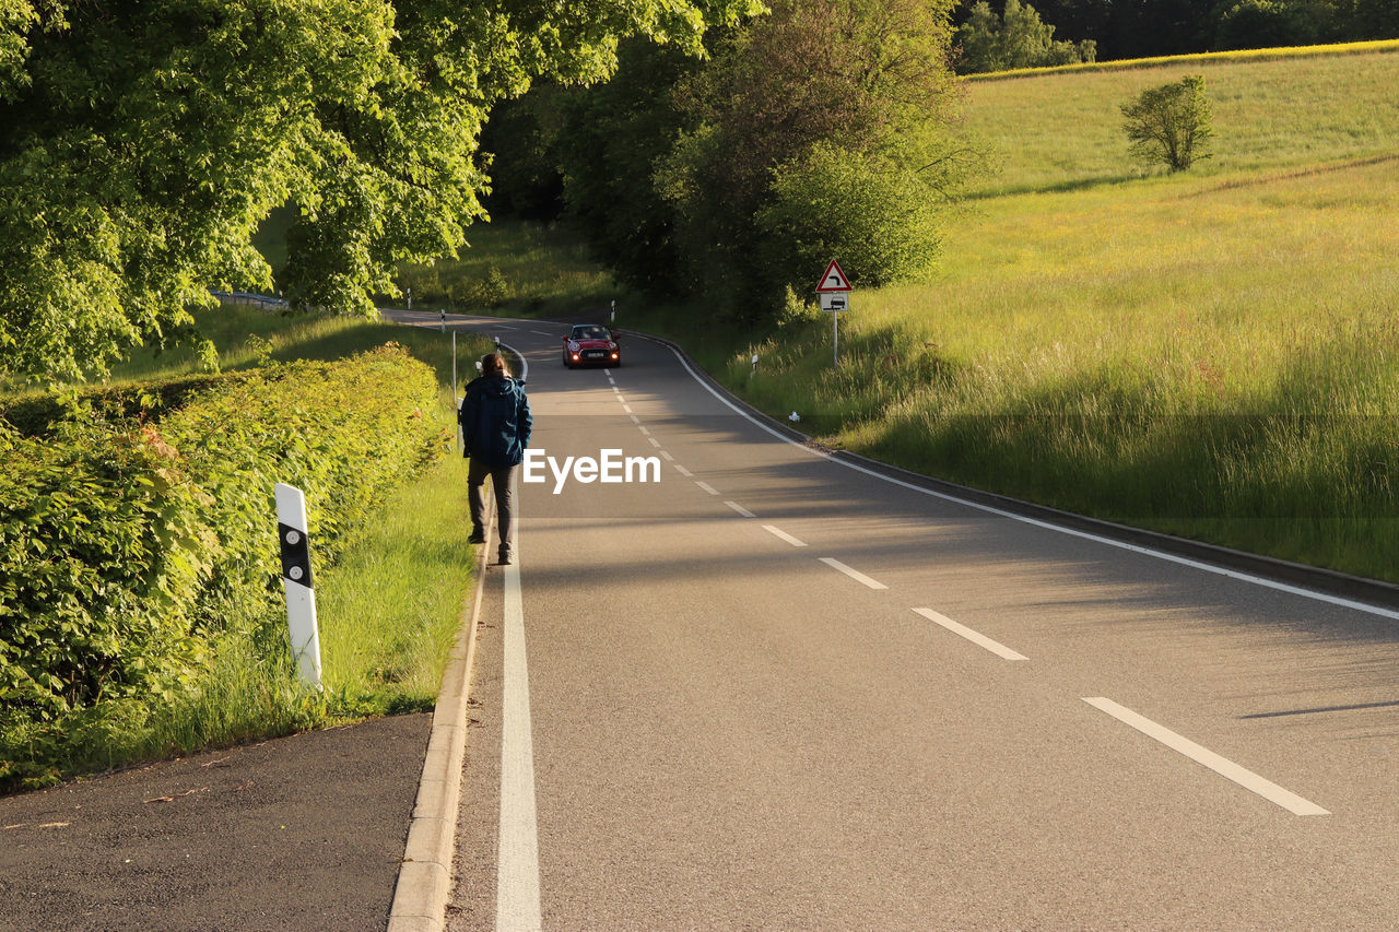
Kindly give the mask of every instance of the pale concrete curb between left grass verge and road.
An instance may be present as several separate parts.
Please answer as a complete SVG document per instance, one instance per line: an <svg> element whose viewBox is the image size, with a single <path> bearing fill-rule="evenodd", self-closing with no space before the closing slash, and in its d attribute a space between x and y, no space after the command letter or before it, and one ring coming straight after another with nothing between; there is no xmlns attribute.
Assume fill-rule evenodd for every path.
<svg viewBox="0 0 1399 932"><path fill-rule="evenodd" d="M494 498L491 495L490 498ZM491 501L488 514L494 515ZM476 626L485 592L485 556L491 549L494 519L476 560L476 599L456 645L442 670L442 689L432 709L418 798L409 824L409 841L399 866L399 882L389 911L389 932L441 932L452 896L452 854L456 849L456 812L462 800L462 767L466 758L467 696L476 661Z"/></svg>

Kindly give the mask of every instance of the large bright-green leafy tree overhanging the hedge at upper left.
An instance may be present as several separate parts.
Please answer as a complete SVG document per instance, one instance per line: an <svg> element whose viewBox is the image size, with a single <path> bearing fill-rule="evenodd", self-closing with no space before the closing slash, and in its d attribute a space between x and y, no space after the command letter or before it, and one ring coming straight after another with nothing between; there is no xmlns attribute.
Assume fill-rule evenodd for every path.
<svg viewBox="0 0 1399 932"><path fill-rule="evenodd" d="M604 78L646 35L698 52L753 0L0 0L0 374L102 374L270 287L250 236L299 209L280 283L372 313L402 260L483 216L490 106Z"/></svg>

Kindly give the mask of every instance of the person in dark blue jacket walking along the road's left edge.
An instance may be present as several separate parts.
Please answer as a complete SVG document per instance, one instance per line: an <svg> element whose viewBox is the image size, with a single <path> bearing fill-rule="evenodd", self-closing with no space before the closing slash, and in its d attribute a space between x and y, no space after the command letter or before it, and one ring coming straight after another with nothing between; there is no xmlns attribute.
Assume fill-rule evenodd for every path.
<svg viewBox="0 0 1399 932"><path fill-rule="evenodd" d="M499 353L481 357L481 375L466 386L457 410L462 452L471 460L466 500L471 509L471 543L485 543L481 487L491 477L495 518L501 530L499 563L511 563L511 530L515 523L515 470L525 459L533 418L522 382L511 378Z"/></svg>

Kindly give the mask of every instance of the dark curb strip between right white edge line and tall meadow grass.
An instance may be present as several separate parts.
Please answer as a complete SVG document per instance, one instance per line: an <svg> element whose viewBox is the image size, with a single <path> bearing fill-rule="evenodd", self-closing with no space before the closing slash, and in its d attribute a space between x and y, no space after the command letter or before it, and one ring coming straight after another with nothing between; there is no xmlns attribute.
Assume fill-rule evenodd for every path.
<svg viewBox="0 0 1399 932"><path fill-rule="evenodd" d="M1175 557L1182 557L1198 563L1206 563L1216 567L1223 567L1241 574L1260 577L1273 582L1311 589L1314 592L1323 593L1328 596L1335 596L1339 599L1371 603L1374 606L1386 609L1389 612L1399 607L1399 586L1389 582L1382 582L1379 579L1353 577L1344 572L1336 572L1335 570L1309 567L1300 563L1290 563L1287 560L1277 560L1276 557L1265 557L1255 553L1247 553L1242 550L1221 547L1219 544L1209 544L1199 540L1189 540L1186 537L1174 537L1171 535L1160 533L1156 530L1144 530L1142 528L1119 525L1098 518L1076 515L1073 512L1060 511L1058 508L1049 508L1048 505L1037 505L1034 502L1021 501L1018 498L1010 498L1006 495L999 495L996 493L988 493L988 491L981 491L979 488L971 488L968 486L958 486L957 483L950 483L942 479L933 479L932 476L923 476L922 473L915 473L907 469L901 469L898 466L890 466L888 463L881 463L879 460L862 456L859 453L851 453L848 451L824 449L814 441L811 441L811 438L807 437L806 434L793 430L788 424L774 420L772 417L753 407L743 399L734 396L718 379L705 372L704 368L701 368L694 360L691 360L690 354L686 353L684 347L681 347L679 343L674 343L673 340L667 340L665 337L652 336L649 333L641 333L638 330L623 330L623 333L644 340L651 340L653 343L659 343L662 346L674 350L690 364L690 368L700 378L702 378L706 385L709 385L709 388L712 388L715 392L722 393L723 397L727 399L734 407L743 409L743 411L746 411L754 420L760 421L764 427L788 438L789 441L800 444L802 446L809 446L814 451L820 451L834 460L845 462L852 466L856 466L858 469L863 469L870 473L879 473L895 481L907 483L909 486L918 486L939 495L953 500L961 500L964 502L981 505L983 508L993 508L997 511L1004 511L1034 521L1042 521L1045 523L1059 525L1062 528L1067 528L1072 530L1097 535L1100 537L1107 537L1136 547L1157 550Z"/></svg>

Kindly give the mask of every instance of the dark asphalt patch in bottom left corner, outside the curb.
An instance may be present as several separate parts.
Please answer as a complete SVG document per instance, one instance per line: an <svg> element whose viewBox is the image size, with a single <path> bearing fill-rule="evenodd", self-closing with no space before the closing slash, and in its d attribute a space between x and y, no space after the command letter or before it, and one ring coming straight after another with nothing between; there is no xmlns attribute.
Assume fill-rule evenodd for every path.
<svg viewBox="0 0 1399 932"><path fill-rule="evenodd" d="M431 726L400 715L0 798L0 929L383 929Z"/></svg>

